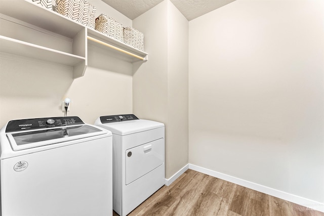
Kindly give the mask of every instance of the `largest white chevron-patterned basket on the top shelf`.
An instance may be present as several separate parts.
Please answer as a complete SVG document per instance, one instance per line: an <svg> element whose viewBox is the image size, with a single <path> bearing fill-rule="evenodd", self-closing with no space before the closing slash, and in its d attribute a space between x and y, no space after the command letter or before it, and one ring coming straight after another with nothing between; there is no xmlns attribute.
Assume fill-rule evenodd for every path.
<svg viewBox="0 0 324 216"><path fill-rule="evenodd" d="M56 0L56 12L95 28L96 7L85 0Z"/></svg>

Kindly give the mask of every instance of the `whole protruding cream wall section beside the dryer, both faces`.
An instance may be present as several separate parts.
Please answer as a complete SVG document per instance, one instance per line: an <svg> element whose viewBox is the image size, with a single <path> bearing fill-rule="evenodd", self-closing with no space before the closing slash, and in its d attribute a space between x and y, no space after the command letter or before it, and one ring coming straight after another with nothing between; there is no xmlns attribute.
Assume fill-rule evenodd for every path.
<svg viewBox="0 0 324 216"><path fill-rule="evenodd" d="M133 27L144 33L149 54L133 68L133 111L165 123L169 179L188 163L188 21L166 0L134 19Z"/></svg>

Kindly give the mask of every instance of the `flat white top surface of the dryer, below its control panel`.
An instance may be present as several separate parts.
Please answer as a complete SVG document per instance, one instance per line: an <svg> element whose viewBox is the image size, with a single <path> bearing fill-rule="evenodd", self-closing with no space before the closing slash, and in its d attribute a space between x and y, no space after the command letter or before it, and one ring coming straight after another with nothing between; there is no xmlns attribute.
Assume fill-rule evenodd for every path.
<svg viewBox="0 0 324 216"><path fill-rule="evenodd" d="M137 119L132 121L119 121L119 122L112 122L112 123L99 123L97 125L105 129L108 129L108 131L111 131L112 134L117 134L120 136L134 134L138 132L144 132L159 127L164 127L164 123L151 121L151 120L144 120L144 119Z"/></svg>

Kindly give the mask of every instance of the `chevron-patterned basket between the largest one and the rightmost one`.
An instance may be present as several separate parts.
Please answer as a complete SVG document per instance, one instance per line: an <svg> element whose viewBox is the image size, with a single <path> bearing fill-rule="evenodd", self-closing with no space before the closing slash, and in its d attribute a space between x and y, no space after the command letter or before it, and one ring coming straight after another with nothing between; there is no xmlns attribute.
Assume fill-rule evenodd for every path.
<svg viewBox="0 0 324 216"><path fill-rule="evenodd" d="M95 29L109 37L124 42L123 26L124 25L119 21L105 14L100 14L100 16L96 19Z"/></svg>

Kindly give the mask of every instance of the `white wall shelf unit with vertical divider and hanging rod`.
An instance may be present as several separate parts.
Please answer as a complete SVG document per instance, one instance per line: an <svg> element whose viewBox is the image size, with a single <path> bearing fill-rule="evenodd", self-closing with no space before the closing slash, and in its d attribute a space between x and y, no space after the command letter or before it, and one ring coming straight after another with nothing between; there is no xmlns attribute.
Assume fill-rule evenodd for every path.
<svg viewBox="0 0 324 216"><path fill-rule="evenodd" d="M10 36L8 37L8 35L0 35L0 52L72 66L73 78L84 75L88 64L88 42L107 50L107 52L116 52L118 50L130 62L147 60L147 53L28 0L0 1L1 14L28 23L31 26L53 32L54 34L71 38L71 41L73 41L73 51L70 54L31 44L27 41L17 40ZM93 40L88 39L88 37L93 38ZM96 42L97 40L101 42L98 43ZM111 47L117 49L112 49Z"/></svg>

